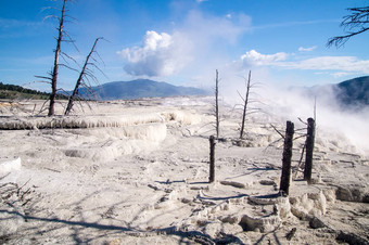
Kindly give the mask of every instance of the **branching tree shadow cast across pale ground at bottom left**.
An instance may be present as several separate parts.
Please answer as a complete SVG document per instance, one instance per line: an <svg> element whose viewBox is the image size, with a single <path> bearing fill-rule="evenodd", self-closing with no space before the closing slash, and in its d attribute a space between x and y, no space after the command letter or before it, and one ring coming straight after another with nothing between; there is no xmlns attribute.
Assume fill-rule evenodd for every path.
<svg viewBox="0 0 369 245"><path fill-rule="evenodd" d="M112 237L119 237L125 240L125 237L150 237L150 236L158 236L158 235L173 235L177 236L179 244L189 243L192 244L193 241L205 241L206 244L214 244L215 241L199 231L181 231L177 227L173 227L171 224L161 229L144 229L139 228L139 224L132 225L133 221L137 220L141 214L147 210L148 207L145 205L142 208L137 210L137 214L132 214L131 219L128 220L119 220L115 219L115 217L107 218L99 214L103 210L110 210L112 208L122 208L127 207L127 202L129 198L123 199L122 202L106 205L106 206L94 206L93 208L80 208L84 206L84 203L90 202L90 197L99 194L99 191L90 193L88 196L82 197L77 202L71 202L67 206L58 207L54 210L50 210L48 208L37 208L37 203L40 199L34 198L33 204L27 204L24 206L24 209L16 208L14 206L0 206L0 224L8 222L9 220L23 220L22 223L18 223L17 231L15 233L10 233L8 235L0 236L0 243L7 242L12 244L21 244L27 243L31 240L31 243L50 243L50 241L58 241L58 243L75 243L75 244L88 244L90 242L102 242L112 240ZM35 197L35 196L34 196ZM40 198L44 198L47 196L40 196ZM86 206L86 204L85 204ZM71 218L60 218L55 216L61 216L62 212L59 212L59 208L61 211L67 209L67 207L76 207L74 210L78 214L74 214L74 210L71 210ZM79 208L77 208L79 207ZM53 212L55 211L55 212ZM93 221L86 221L84 212L94 212ZM180 209L176 208L171 210L171 212L180 211ZM106 212L106 211L105 211ZM150 222L156 219L160 216L168 214L167 211L161 212L155 217L152 217L150 220L145 222ZM68 216L69 217L69 216ZM72 220L76 219L77 220ZM109 220L115 220L115 222L123 223L119 224L105 224L103 222L110 222ZM94 232L93 230L98 230ZM189 242L190 241L190 242ZM53 242L51 242L53 243Z"/></svg>

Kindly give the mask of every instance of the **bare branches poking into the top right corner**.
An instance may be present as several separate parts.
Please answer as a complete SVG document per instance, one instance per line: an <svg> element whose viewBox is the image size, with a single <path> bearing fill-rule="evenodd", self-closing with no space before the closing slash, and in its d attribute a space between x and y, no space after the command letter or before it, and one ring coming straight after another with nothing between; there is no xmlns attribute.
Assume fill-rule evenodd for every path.
<svg viewBox="0 0 369 245"><path fill-rule="evenodd" d="M330 38L327 46L342 47L349 38L369 30L369 7L349 8L351 14L343 17L341 26L346 35Z"/></svg>

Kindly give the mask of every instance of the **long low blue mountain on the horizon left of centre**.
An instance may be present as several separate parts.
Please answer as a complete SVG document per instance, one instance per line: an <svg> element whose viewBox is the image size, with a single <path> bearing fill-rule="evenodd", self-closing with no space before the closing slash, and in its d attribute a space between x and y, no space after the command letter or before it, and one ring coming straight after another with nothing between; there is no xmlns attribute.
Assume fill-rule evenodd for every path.
<svg viewBox="0 0 369 245"><path fill-rule="evenodd" d="M208 92L191 87L173 86L149 79L113 81L93 87L101 100L131 100L140 98L165 98L180 95L207 95ZM80 91L82 94L82 91Z"/></svg>

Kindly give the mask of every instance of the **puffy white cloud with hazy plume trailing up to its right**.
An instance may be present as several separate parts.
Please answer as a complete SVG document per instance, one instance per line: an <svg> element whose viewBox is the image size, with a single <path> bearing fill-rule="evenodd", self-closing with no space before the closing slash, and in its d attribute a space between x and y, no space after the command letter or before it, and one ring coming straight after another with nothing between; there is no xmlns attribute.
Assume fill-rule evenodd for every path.
<svg viewBox="0 0 369 245"><path fill-rule="evenodd" d="M224 63L240 35L250 27L251 18L243 14L214 16L190 11L183 23L171 33L147 31L142 44L118 51L127 61L124 69L133 76L163 77L179 72L202 73ZM184 69L186 68L186 69ZM183 70L184 69L184 70Z"/></svg>

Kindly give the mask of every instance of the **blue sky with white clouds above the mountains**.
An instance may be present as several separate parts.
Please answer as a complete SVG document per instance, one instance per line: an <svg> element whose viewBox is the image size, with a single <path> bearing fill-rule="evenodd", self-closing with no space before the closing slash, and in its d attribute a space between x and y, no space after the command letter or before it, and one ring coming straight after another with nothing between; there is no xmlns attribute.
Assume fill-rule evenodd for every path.
<svg viewBox="0 0 369 245"><path fill-rule="evenodd" d="M369 75L369 33L343 48L327 48L343 35L342 17L368 0L77 0L65 30L78 50L62 49L80 65L97 37L105 76L101 83L151 78L208 87L219 69L225 85L250 69L275 85L315 86ZM0 81L28 85L52 68L61 1L0 0ZM99 60L99 59L98 59ZM74 65L74 64L72 64ZM78 68L78 66L76 66ZM71 89L78 74L62 68L59 86ZM30 83L29 83L30 82Z"/></svg>

